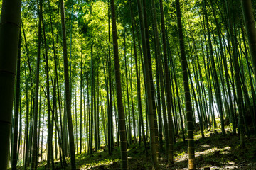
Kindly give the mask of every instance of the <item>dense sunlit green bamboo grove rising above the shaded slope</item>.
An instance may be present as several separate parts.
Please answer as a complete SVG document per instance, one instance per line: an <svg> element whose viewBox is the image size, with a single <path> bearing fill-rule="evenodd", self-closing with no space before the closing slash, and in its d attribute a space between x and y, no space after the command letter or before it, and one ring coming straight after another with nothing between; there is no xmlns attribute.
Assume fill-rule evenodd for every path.
<svg viewBox="0 0 256 170"><path fill-rule="evenodd" d="M127 145L139 142L147 148L150 140L156 169L157 154L172 164L172 143L178 136L193 140L195 129L204 137L204 130L219 126L225 134L225 122L230 122L241 145L244 135L255 133L255 56L240 1L114 3L125 124L119 123L117 112L110 1L65 1L71 117L63 65L63 4L22 1L12 168L36 167L47 160L53 169L54 159L65 166L71 154L92 155L102 148L112 154L121 145L118 129L123 125L127 139L120 140ZM255 15L256 1L250 8Z"/></svg>

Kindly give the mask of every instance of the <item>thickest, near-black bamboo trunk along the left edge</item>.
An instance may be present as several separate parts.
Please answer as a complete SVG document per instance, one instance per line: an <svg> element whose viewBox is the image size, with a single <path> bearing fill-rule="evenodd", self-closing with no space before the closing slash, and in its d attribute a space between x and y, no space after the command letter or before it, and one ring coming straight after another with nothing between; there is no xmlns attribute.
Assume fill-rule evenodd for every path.
<svg viewBox="0 0 256 170"><path fill-rule="evenodd" d="M3 0L0 24L0 169L7 169L14 100L21 1ZM2 82L5 82L4 84Z"/></svg>

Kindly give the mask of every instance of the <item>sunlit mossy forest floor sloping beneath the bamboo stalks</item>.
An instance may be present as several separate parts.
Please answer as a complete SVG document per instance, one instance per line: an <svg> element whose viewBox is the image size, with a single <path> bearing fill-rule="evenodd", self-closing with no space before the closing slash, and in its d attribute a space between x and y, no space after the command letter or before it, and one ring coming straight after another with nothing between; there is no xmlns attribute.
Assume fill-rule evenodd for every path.
<svg viewBox="0 0 256 170"><path fill-rule="evenodd" d="M217 169L256 169L256 137L252 135L250 140L245 138L245 148L240 147L240 138L238 135L231 134L231 128L225 129L226 135L220 134L220 129L205 132L205 138L201 138L201 134L194 136L196 168L210 170ZM149 146L149 143L147 144ZM148 147L148 152L150 149ZM128 164L131 170L147 170L152 169L151 157L146 158L143 143L129 145L128 147ZM166 159L161 154L159 164L161 169L188 169L187 143L181 138L177 138L174 144L174 164L167 165ZM70 160L68 159L68 162ZM43 162L42 162L43 163ZM119 147L114 148L112 156L108 155L107 149L101 149L94 152L93 157L87 154L77 154L76 163L78 169L118 170L121 167ZM46 164L46 163L44 163ZM58 164L55 164L56 169ZM41 169L45 167L41 164Z"/></svg>

